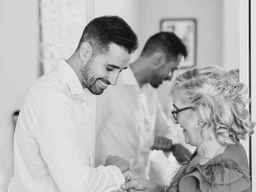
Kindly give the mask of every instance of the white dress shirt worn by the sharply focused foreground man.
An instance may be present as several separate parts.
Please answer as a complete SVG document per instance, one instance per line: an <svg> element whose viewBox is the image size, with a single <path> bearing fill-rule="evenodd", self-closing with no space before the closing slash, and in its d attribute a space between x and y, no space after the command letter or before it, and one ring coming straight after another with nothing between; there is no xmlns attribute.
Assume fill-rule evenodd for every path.
<svg viewBox="0 0 256 192"><path fill-rule="evenodd" d="M92 168L90 96L63 59L32 86L14 134L9 192L110 192L125 182L116 166Z"/></svg>

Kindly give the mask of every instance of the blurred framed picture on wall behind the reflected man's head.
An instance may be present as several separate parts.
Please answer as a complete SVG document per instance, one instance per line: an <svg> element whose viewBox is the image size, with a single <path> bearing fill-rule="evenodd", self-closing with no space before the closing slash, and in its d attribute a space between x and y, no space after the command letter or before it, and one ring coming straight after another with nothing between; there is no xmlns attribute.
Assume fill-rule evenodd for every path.
<svg viewBox="0 0 256 192"><path fill-rule="evenodd" d="M188 19L162 19L160 30L174 32L186 45L188 56L180 68L189 68L196 65L196 20Z"/></svg>

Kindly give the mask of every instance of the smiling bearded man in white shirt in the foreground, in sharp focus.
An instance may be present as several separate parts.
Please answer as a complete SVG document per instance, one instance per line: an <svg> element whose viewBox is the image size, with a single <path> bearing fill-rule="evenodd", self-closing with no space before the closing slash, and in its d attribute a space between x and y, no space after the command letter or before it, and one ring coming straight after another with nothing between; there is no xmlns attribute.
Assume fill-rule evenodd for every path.
<svg viewBox="0 0 256 192"><path fill-rule="evenodd" d="M92 94L115 85L138 47L118 16L102 16L84 29L68 59L30 88L14 134L14 175L9 192L110 192L125 182L129 162L109 156L92 168Z"/></svg>

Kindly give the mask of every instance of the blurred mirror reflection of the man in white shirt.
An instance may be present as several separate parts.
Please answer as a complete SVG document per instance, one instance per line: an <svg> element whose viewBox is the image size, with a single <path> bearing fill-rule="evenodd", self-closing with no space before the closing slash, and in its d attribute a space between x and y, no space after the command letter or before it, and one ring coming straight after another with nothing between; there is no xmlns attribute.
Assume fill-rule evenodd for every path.
<svg viewBox="0 0 256 192"><path fill-rule="evenodd" d="M140 57L122 72L116 86L97 97L96 166L108 154L120 154L130 161L130 168L148 176L150 147L173 148L175 134L154 88L170 80L186 56L185 45L174 33L155 34ZM174 154L191 154L182 145L174 149ZM184 155L182 159L186 161Z"/></svg>

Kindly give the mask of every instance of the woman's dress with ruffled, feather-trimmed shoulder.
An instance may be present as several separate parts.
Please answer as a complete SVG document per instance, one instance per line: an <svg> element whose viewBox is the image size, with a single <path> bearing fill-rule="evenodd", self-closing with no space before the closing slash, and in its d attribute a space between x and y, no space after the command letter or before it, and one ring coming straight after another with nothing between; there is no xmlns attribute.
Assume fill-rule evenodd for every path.
<svg viewBox="0 0 256 192"><path fill-rule="evenodd" d="M248 167L242 166L234 151L240 150L241 144L230 145L226 150L206 164L189 162L184 164L172 178L166 192L206 191L243 191L250 187ZM192 154L192 160L197 151Z"/></svg>

